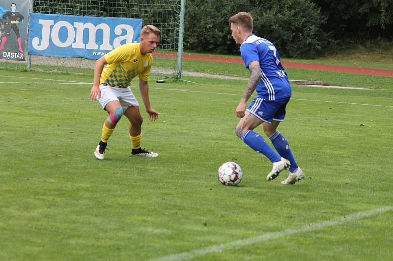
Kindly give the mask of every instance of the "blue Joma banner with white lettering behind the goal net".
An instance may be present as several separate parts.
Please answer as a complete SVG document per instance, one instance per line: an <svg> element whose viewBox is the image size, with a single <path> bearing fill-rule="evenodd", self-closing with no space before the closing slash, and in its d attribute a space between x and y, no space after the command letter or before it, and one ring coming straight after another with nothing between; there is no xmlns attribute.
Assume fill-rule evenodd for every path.
<svg viewBox="0 0 393 261"><path fill-rule="evenodd" d="M98 59L140 42L142 19L30 14L28 54Z"/></svg>

